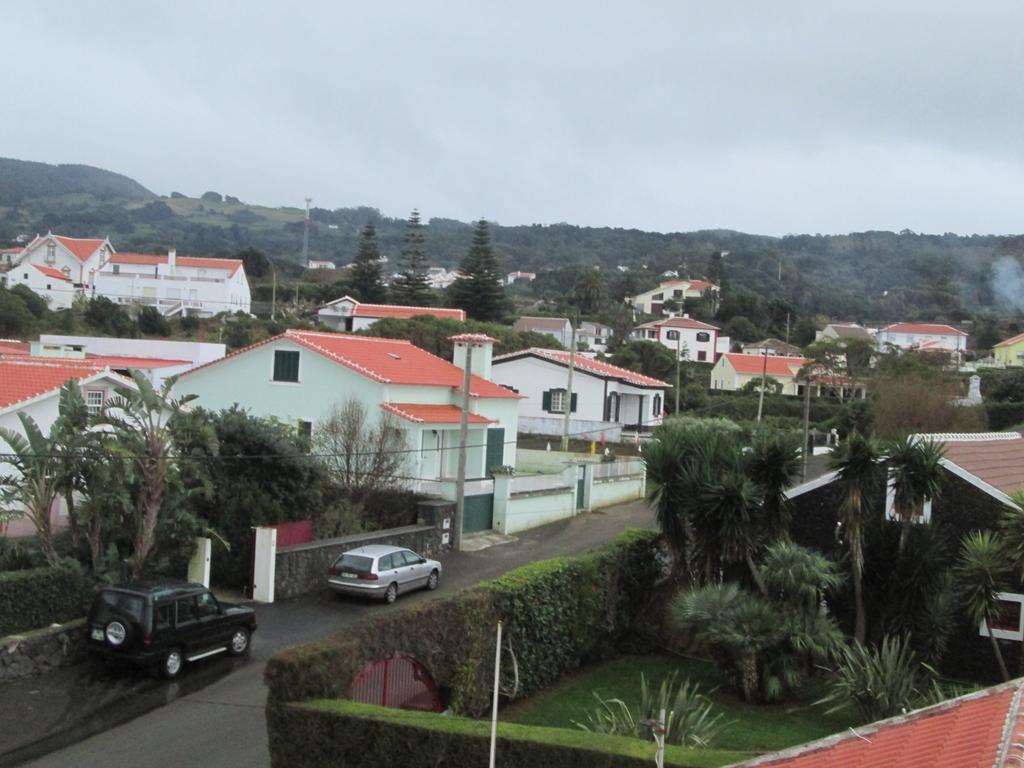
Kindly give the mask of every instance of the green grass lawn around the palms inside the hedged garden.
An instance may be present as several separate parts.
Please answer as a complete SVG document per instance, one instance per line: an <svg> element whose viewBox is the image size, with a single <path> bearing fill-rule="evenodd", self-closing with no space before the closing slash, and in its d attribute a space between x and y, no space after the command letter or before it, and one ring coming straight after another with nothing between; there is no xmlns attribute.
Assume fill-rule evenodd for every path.
<svg viewBox="0 0 1024 768"><path fill-rule="evenodd" d="M772 752L813 741L858 725L853 712L825 714L823 707L811 707L822 690L805 693L805 700L783 705L748 705L731 691L721 689L718 673L710 662L674 655L620 656L610 662L581 670L528 699L505 710L503 719L532 725L571 728L572 721L585 721L596 707L592 691L604 697L622 698L630 705L640 699L640 673L660 685L673 670L681 679L689 678L708 693L730 721L714 746L739 752Z"/></svg>

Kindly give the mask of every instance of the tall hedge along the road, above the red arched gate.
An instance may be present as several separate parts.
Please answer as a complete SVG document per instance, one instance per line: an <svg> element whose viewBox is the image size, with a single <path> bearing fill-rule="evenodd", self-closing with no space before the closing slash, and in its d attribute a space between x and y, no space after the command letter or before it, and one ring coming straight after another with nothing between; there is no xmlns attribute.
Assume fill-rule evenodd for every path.
<svg viewBox="0 0 1024 768"><path fill-rule="evenodd" d="M430 671L455 712L478 715L489 707L499 618L515 650L522 692L538 690L607 654L630 631L657 578L655 549L654 534L628 531L593 554L534 563L282 651L266 667L268 708L343 698L366 665L408 653ZM272 739L275 729L270 732Z"/></svg>

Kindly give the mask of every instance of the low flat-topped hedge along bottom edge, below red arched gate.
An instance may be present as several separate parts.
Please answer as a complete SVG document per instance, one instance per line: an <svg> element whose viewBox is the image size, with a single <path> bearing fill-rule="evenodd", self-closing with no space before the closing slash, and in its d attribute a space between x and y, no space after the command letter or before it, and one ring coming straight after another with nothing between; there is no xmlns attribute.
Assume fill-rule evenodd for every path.
<svg viewBox="0 0 1024 768"><path fill-rule="evenodd" d="M348 700L282 708L270 731L275 768L437 768L486 765L490 723L406 712ZM719 750L666 749L667 766L717 768L745 755ZM647 768L654 744L566 728L499 723L502 768Z"/></svg>

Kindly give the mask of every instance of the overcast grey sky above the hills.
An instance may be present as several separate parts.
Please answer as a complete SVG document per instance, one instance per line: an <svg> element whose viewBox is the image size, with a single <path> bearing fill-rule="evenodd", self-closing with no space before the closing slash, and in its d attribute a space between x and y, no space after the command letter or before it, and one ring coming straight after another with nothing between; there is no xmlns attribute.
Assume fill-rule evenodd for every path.
<svg viewBox="0 0 1024 768"><path fill-rule="evenodd" d="M0 156L659 231L1024 230L1024 3L20 2Z"/></svg>

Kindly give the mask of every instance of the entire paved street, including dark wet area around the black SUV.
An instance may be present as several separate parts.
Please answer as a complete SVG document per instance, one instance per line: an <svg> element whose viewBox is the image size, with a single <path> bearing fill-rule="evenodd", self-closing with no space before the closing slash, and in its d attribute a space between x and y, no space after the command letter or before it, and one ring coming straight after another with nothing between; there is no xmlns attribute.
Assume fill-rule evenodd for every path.
<svg viewBox="0 0 1024 768"><path fill-rule="evenodd" d="M115 677L99 670L75 668L0 686L0 711L5 713L0 765L16 764L15 759L31 756L37 759L31 765L39 768L269 766L263 668L281 648L331 635L374 612L451 594L535 560L593 549L625 528L654 524L647 505L633 502L526 531L512 543L452 553L444 560L444 577L437 591L403 596L395 606L343 600L327 591L262 606L257 609L259 631L253 637L248 662L216 658L199 663L173 683L140 674ZM6 714L13 712L12 708L18 709L14 722ZM94 714L87 714L90 711ZM18 719L24 728L17 727ZM46 725L42 732L40 722ZM29 746L28 740L34 745ZM68 743L73 745L65 746ZM46 754L60 746L63 749ZM44 754L45 758L38 759Z"/></svg>

